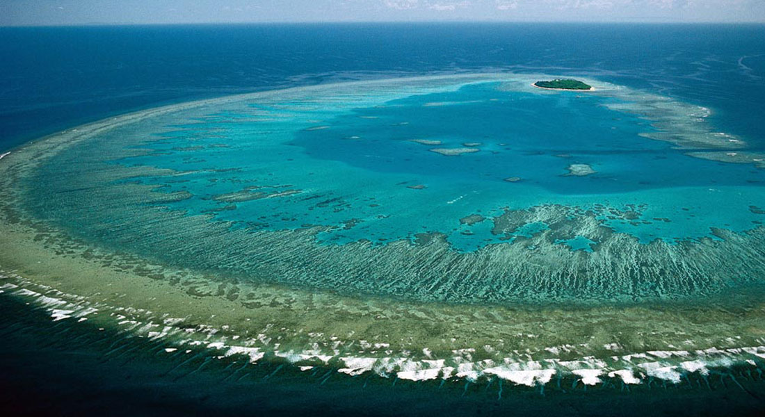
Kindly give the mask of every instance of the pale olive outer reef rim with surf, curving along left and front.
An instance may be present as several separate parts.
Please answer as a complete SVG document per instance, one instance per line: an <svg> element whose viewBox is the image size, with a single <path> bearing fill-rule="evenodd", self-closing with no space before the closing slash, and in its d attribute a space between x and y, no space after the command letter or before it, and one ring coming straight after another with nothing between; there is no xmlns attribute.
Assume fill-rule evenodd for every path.
<svg viewBox="0 0 765 417"><path fill-rule="evenodd" d="M217 102L226 100L236 99ZM18 179L61 148L120 125L210 103L216 100L132 113L6 153L0 165L0 201L17 198ZM251 307L216 295L221 283L205 279L203 272L173 271L129 256L114 261L106 249L72 246L58 230L14 221L13 211L7 203L0 205L0 270L5 271L0 291L48 308L51 320L96 321L166 340L171 350L205 346L211 354L246 355L252 362L274 353L300 367L330 363L350 375L409 380L498 376L519 385L548 383L559 373L577 375L587 385L608 378L639 383L649 376L676 383L682 373L765 358L762 302L742 317L698 306L675 306L668 314L640 305L567 310L420 304L224 283L224 289L236 285L252 295L251 305L257 306ZM47 237L38 239L41 234ZM57 251L60 247L72 253ZM86 257L86 251L95 254ZM113 262L132 268L118 271ZM171 284L140 275L135 266L186 275ZM193 282L207 282L194 287L206 297L188 291ZM698 326L700 315L702 322L711 321L708 327ZM622 323L630 323L627 334ZM433 334L423 324L441 330ZM598 331L593 333L595 324ZM747 336L747 344L737 339L741 336ZM282 340L277 345L278 337Z"/></svg>

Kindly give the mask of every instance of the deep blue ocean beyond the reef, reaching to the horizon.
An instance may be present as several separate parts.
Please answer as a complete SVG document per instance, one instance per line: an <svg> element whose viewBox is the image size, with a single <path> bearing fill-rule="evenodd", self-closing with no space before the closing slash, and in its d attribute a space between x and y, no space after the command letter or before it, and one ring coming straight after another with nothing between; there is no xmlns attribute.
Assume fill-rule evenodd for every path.
<svg viewBox="0 0 765 417"><path fill-rule="evenodd" d="M188 99L424 73L597 76L715 110L762 141L765 29L721 24L0 28L0 149Z"/></svg>

